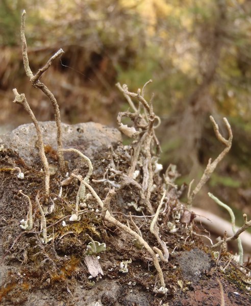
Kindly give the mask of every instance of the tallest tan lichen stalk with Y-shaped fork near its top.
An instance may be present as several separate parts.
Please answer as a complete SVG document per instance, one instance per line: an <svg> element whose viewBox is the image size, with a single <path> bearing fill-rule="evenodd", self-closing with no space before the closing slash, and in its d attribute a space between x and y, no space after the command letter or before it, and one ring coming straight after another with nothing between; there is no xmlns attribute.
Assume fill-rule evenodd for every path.
<svg viewBox="0 0 251 306"><path fill-rule="evenodd" d="M62 127L61 127L61 116L59 111L59 106L54 94L43 84L39 81L42 76L42 73L45 72L49 66L51 66L52 62L59 58L64 52L62 49L59 49L58 52L52 56L48 62L38 70L38 72L33 75L32 70L29 65L29 58L27 53L27 42L25 36L25 21L26 21L26 11L23 10L22 17L21 17L21 41L22 41L22 56L23 56L23 65L26 71L27 76L29 77L30 81L32 82L33 87L39 88L42 92L49 98L53 105L54 114L55 114L55 121L57 124L57 142L58 142L58 157L59 157L59 167L62 172L66 171L64 156L63 156L63 143L62 143Z"/></svg>

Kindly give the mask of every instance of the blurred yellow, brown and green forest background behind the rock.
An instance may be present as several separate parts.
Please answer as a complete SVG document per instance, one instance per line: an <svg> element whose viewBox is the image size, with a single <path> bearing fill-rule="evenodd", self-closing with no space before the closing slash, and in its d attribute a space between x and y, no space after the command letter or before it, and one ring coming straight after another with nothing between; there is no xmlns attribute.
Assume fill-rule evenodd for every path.
<svg viewBox="0 0 251 306"><path fill-rule="evenodd" d="M128 105L115 87L136 91L149 79L148 97L162 119L161 162L178 165L180 183L199 178L222 149L209 115L225 133L233 127L231 154L197 197L207 207L210 189L250 214L251 1L250 0L2 0L0 2L0 122L2 133L30 122L13 105L24 92L39 120L53 120L49 101L31 87L22 65L20 15L27 11L31 69L59 48L65 54L43 75L60 105L62 121L116 126ZM227 136L227 135L226 135ZM215 207L215 210L219 210Z"/></svg>

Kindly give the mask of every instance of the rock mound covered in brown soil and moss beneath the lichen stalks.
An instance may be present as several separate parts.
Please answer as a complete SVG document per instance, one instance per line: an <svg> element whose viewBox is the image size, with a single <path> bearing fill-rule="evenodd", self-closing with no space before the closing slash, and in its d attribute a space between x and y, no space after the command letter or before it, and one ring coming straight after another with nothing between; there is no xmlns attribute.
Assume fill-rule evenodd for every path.
<svg viewBox="0 0 251 306"><path fill-rule="evenodd" d="M63 128L68 131L64 133L67 134L65 148L77 148L90 158L93 165L90 183L98 196L105 199L112 187L109 184L120 186L110 203L111 215L133 227L128 217L131 212L145 241L151 247L160 247L149 231L152 218L147 216L139 190L130 184L121 187L121 178L109 170L115 167L126 173L130 167L132 148L121 144L119 132L95 123L63 125ZM42 123L42 130L52 169L51 193L47 200L43 194L44 174L33 125L20 126L1 139L1 305L220 305L219 283L226 305L251 304L248 269L243 270L230 261L227 252L222 251L216 261L217 253L196 235L192 218L181 222L185 208L179 201L179 194L173 190L169 191L166 213L158 220L160 236L169 250L168 262L160 262L167 288L165 295L158 292L157 272L147 251L127 233L104 221L93 197L83 203L80 220L70 222L79 184L77 180L72 181L63 186L62 195L59 195L66 175L58 171L55 125ZM85 177L86 163L74 154L65 157L69 173L76 171ZM24 179L17 176L15 167L21 169ZM135 180L142 180L141 173ZM150 201L156 211L163 184L158 173L154 184L156 188ZM20 227L20 221L26 219L29 203L19 190L31 198L34 219L31 231L23 231ZM47 234L53 236L47 244L41 241L41 215L35 201L38 191L46 214ZM98 253L98 268L103 273L99 272L97 277L92 277L85 264L90 237L106 244L106 249ZM123 269L123 261L128 261L127 269Z"/></svg>

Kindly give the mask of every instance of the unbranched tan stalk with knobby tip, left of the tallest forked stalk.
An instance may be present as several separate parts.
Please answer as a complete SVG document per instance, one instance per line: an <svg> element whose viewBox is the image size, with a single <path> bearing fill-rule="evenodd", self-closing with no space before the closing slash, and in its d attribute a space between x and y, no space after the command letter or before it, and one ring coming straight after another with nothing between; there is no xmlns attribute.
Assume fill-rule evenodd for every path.
<svg viewBox="0 0 251 306"><path fill-rule="evenodd" d="M23 108L27 111L27 113L31 117L32 122L33 122L33 124L35 126L35 129L36 129L36 132L37 132L39 155L40 155L40 159L41 159L42 164L43 164L44 175L45 175L45 177L44 177L45 195L47 197L49 195L49 165L48 165L48 161L46 159L45 152L44 152L42 132L41 132L40 126L38 124L38 121L37 121L33 111L31 110L24 93L19 94L17 92L16 88L13 89L13 93L15 95L15 99L14 99L13 102L23 106Z"/></svg>

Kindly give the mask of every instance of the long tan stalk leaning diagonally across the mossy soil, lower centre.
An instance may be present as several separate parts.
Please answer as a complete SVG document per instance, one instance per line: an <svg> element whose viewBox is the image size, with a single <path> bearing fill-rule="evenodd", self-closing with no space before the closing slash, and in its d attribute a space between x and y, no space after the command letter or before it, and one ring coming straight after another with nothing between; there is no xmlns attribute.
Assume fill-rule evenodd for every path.
<svg viewBox="0 0 251 306"><path fill-rule="evenodd" d="M84 180L81 179L81 177L77 177L78 180L82 181L83 184L89 189L89 191L91 192L91 194L93 195L93 197L96 199L96 201L98 202L98 205L102 208L104 208L104 203L101 200L101 198L99 198L99 196L96 194L95 190L88 184L86 183ZM113 223L114 225L118 226L119 228L121 228L121 230L123 230L124 232L128 233L129 235L133 236L135 239L138 240L138 242L140 244L142 244L144 246L144 248L147 250L147 252L150 254L150 256L153 259L153 263L154 266L157 270L158 276L159 276L159 280L160 280L160 284L161 287L165 288L165 281L164 281L164 276L163 276L163 272L161 270L159 261L156 257L155 252L153 251L153 249L148 245L148 243L142 238L140 237L139 234L137 234L136 232L134 232L133 230L131 230L131 228L129 228L127 225L122 224L121 222L119 222L118 220L116 220L114 217L112 217L109 213L109 211L106 211L106 215L105 215L105 220L108 222Z"/></svg>

